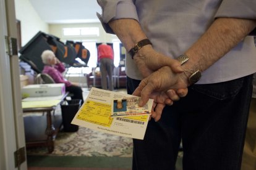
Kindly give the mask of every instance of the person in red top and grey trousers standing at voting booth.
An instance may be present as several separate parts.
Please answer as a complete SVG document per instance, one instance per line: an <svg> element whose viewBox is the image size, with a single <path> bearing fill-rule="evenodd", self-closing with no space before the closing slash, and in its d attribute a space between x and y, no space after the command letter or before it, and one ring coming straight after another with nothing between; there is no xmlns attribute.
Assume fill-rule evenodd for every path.
<svg viewBox="0 0 256 170"><path fill-rule="evenodd" d="M113 91L114 52L111 46L107 44L100 44L98 46L98 62L100 63L102 89Z"/></svg>

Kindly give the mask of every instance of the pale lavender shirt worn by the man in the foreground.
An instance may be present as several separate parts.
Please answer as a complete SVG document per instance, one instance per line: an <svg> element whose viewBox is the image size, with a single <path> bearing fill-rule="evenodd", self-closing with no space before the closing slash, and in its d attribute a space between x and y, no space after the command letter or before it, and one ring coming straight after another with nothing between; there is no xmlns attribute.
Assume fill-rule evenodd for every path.
<svg viewBox="0 0 256 170"><path fill-rule="evenodd" d="M256 19L255 0L98 0L98 15L106 32L110 20L133 18L153 43L153 48L175 59L184 54L218 17ZM126 74L142 75L126 54ZM256 49L253 36L247 36L223 58L203 71L197 84L220 83L256 72Z"/></svg>

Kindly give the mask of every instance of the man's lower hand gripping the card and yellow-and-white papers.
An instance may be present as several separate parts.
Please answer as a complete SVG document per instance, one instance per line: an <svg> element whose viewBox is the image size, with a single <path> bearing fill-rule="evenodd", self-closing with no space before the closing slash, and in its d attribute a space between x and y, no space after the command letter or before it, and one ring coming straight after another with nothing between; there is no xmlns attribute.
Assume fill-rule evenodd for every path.
<svg viewBox="0 0 256 170"><path fill-rule="evenodd" d="M153 99L151 116L158 121L166 104L172 105L179 97L187 95L187 77L184 73L174 73L169 67L162 67L142 79L133 95L140 96L139 106Z"/></svg>

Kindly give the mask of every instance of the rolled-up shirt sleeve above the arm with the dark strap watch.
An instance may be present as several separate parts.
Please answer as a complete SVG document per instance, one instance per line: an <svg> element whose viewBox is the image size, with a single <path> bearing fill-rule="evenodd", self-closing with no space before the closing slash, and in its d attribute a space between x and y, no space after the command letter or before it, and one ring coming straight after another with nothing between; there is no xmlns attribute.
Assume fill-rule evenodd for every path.
<svg viewBox="0 0 256 170"><path fill-rule="evenodd" d="M102 14L97 14L106 33L113 30L108 25L111 20L129 18L139 21L134 0L97 0L101 6Z"/></svg>

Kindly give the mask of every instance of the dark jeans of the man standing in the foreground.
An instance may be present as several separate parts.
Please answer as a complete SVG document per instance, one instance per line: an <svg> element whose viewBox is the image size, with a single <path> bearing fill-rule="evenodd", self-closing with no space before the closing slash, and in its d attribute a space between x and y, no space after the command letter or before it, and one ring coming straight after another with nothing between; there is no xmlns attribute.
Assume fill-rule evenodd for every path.
<svg viewBox="0 0 256 170"><path fill-rule="evenodd" d="M132 94L140 81L127 78ZM184 170L241 169L252 95L252 76L189 87L148 123L144 140L134 139L132 169L175 169L182 139Z"/></svg>

